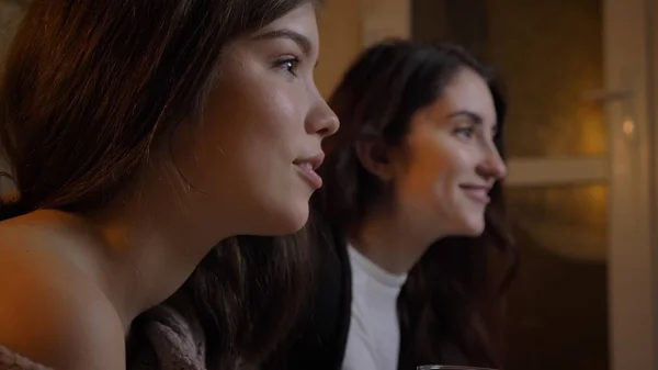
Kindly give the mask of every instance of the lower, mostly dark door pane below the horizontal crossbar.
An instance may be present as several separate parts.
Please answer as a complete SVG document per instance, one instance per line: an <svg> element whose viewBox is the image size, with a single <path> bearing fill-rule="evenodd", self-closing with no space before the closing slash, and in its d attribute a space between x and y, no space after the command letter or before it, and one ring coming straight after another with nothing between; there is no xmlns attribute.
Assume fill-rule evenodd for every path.
<svg viewBox="0 0 658 370"><path fill-rule="evenodd" d="M608 188L508 194L521 265L509 298L507 369L608 369Z"/></svg>

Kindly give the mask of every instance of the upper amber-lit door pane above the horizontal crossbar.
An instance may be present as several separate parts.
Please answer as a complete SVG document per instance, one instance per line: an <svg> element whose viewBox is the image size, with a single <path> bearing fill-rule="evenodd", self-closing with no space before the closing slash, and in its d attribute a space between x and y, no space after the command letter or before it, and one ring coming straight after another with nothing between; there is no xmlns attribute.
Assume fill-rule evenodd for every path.
<svg viewBox="0 0 658 370"><path fill-rule="evenodd" d="M603 155L601 0L412 0L413 37L450 40L502 75L510 157Z"/></svg>

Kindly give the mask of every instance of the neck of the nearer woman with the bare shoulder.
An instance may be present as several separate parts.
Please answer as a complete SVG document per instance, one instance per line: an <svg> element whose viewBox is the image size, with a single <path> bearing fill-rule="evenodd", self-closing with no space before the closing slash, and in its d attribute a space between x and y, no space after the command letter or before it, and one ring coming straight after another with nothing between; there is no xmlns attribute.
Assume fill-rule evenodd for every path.
<svg viewBox="0 0 658 370"><path fill-rule="evenodd" d="M208 235L212 228L201 225L179 202L163 201L177 199L164 193L173 187L163 188L168 191L149 187L148 195L129 195L92 217L104 243L99 280L126 329L141 312L173 294L205 255L230 236L217 228ZM223 225L222 220L215 221L215 226Z"/></svg>

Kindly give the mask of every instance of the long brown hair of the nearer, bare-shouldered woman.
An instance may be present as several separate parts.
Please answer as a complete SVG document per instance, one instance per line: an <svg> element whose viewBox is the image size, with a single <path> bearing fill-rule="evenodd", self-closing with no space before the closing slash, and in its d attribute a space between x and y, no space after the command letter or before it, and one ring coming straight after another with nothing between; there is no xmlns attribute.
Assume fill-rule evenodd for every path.
<svg viewBox="0 0 658 370"><path fill-rule="evenodd" d="M198 116L227 43L307 1L32 1L0 81L0 147L18 188L0 221L104 208L155 142ZM297 244L231 238L188 280L217 361L259 358L285 335L308 280Z"/></svg>

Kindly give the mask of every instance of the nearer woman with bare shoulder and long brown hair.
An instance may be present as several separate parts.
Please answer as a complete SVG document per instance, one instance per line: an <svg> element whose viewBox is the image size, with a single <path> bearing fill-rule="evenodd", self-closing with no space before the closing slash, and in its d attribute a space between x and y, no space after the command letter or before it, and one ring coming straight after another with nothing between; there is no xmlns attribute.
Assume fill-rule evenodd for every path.
<svg viewBox="0 0 658 370"><path fill-rule="evenodd" d="M0 82L0 369L125 369L127 337L131 367L235 369L285 335L306 251L237 236L297 232L321 186L317 5L31 3ZM168 363L186 314L212 351Z"/></svg>

